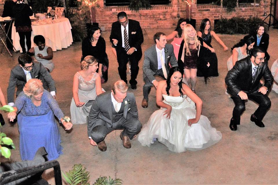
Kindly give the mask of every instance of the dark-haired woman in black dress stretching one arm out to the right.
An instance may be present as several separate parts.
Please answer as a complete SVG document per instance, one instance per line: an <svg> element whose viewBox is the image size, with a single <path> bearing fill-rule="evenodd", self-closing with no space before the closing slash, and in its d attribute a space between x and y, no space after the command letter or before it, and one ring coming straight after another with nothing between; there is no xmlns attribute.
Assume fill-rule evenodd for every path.
<svg viewBox="0 0 278 185"><path fill-rule="evenodd" d="M211 30L211 22L208 18L204 18L202 20L200 30L197 34L203 39L204 42L203 47L200 49L197 76L204 77L206 83L208 77L218 76L217 57L213 47L211 46L211 36L219 42L219 44L224 48L224 51L226 51L228 47L215 34L215 32Z"/></svg>

